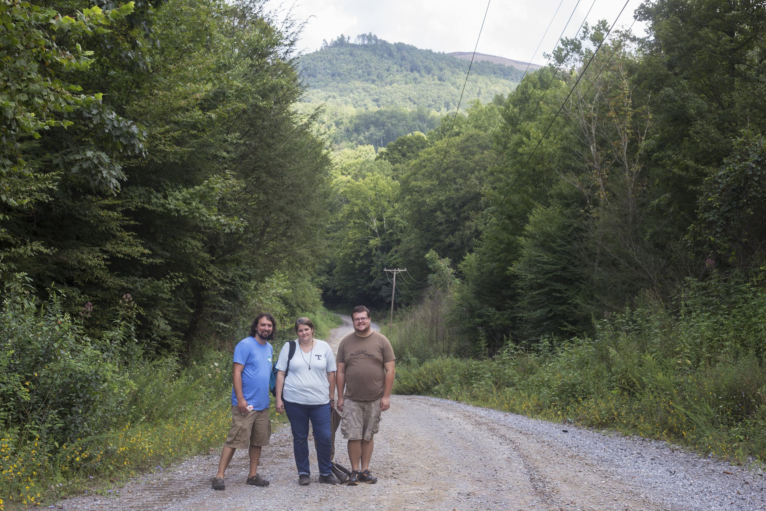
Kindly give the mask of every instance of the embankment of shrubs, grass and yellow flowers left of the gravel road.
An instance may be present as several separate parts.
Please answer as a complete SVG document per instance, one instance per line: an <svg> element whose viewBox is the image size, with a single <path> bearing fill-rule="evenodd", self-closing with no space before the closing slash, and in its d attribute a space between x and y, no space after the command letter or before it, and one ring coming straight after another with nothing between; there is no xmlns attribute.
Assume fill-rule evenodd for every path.
<svg viewBox="0 0 766 511"><path fill-rule="evenodd" d="M0 318L0 366L13 369L0 378L0 510L78 493L119 496L135 473L221 445L231 421L230 353L210 350L185 367L142 361L129 325L89 339L48 305L11 297ZM339 323L326 310L307 316L318 337ZM286 421L273 407L271 418Z"/></svg>

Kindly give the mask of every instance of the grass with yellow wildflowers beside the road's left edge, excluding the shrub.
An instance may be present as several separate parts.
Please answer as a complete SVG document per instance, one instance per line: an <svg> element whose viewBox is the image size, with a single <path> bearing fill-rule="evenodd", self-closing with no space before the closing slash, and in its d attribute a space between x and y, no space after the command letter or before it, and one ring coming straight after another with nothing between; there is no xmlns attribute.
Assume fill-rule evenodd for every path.
<svg viewBox="0 0 766 511"><path fill-rule="evenodd" d="M80 494L118 496L129 477L220 447L231 425L231 354L206 352L136 365L126 421L104 434L57 444L34 426L0 429L0 509L48 505ZM286 423L270 407L273 424Z"/></svg>

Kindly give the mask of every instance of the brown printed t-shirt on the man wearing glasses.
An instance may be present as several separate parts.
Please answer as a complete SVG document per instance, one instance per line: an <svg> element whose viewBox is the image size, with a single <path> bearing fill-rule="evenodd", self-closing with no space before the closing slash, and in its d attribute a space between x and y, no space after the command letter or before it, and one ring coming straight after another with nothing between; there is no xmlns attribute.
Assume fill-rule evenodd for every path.
<svg viewBox="0 0 766 511"><path fill-rule="evenodd" d="M345 336L338 346L336 362L345 364L345 398L352 401L375 401L385 391L383 364L396 359L391 342L380 332L359 337ZM339 389L342 391L342 389Z"/></svg>

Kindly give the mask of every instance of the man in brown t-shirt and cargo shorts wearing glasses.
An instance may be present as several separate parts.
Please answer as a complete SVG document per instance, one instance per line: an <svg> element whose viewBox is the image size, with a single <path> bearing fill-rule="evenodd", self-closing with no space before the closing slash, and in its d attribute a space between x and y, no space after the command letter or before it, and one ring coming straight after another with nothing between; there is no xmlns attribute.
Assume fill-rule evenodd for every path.
<svg viewBox="0 0 766 511"><path fill-rule="evenodd" d="M349 441L352 474L349 486L377 483L369 470L372 435L378 432L381 411L391 407L394 386L394 350L391 342L370 327L370 311L356 306L351 313L354 331L338 346L338 409L342 412L341 433ZM360 465L361 460L361 467Z"/></svg>

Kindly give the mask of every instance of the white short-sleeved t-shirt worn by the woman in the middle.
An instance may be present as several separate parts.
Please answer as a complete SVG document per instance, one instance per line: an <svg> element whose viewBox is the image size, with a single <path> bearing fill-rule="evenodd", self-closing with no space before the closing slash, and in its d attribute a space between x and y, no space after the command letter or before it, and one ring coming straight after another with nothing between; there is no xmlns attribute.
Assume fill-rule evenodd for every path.
<svg viewBox="0 0 766 511"><path fill-rule="evenodd" d="M300 349L300 341L296 339L295 354L290 360L290 372L285 378L282 388L284 401L299 405L325 405L330 402L330 384L327 373L336 371L335 355L332 355L330 345L319 339L314 339L314 349L304 353ZM290 342L285 342L277 359L277 370L287 368L287 355L290 353ZM309 369L309 360L311 369Z"/></svg>

